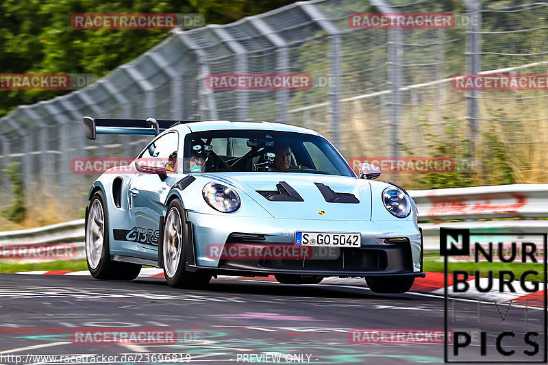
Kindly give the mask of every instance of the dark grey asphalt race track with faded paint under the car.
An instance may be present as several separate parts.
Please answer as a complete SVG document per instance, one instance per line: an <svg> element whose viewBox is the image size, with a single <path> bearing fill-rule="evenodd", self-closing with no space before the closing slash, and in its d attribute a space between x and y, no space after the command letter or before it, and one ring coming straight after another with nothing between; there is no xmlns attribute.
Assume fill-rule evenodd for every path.
<svg viewBox="0 0 548 365"><path fill-rule="evenodd" d="M159 357L150 357L160 353L188 353L191 362L203 364L243 363L245 359L262 364L443 363L443 340L412 344L354 344L349 340L349 331L356 328L443 331L443 298L428 294L388 295L352 286L282 286L232 279L214 279L207 290L174 289L161 278L121 282L2 274L0 281L0 364L51 363L27 356L31 354L99 355L97 359L104 355L106 364L151 364L160 363L154 361ZM458 304L456 316L463 327L474 328L477 304ZM497 310L495 305L486 305L482 316L497 316ZM532 310L529 316L536 312L542 311ZM503 323L488 320L482 328L499 326L524 333L534 325L525 323L523 312L512 308ZM177 342L105 345L71 340L75 328L100 327L175 329ZM494 347L490 341L488 353ZM514 347L519 352L525 348L523 342ZM267 353L281 354L281 360L258 357ZM124 354L136 357L132 361L126 357L124 362ZM109 362L108 356L114 355L118 357Z"/></svg>

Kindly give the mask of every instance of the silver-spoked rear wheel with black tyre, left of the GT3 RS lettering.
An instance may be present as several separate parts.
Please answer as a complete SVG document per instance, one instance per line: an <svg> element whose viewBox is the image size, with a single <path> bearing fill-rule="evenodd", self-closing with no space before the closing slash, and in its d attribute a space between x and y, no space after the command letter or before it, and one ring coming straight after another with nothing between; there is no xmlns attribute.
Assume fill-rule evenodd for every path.
<svg viewBox="0 0 548 365"><path fill-rule="evenodd" d="M86 219L86 261L95 279L133 280L141 265L110 261L108 245L108 217L105 194L101 190L93 194Z"/></svg>

